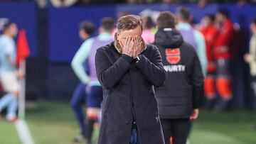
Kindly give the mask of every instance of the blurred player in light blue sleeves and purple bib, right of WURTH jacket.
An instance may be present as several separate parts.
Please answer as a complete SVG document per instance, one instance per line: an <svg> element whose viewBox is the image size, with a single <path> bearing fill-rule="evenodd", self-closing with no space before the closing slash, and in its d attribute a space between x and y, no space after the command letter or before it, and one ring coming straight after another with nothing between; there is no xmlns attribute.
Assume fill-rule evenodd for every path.
<svg viewBox="0 0 256 144"><path fill-rule="evenodd" d="M204 76L206 76L207 58L206 43L202 33L191 26L192 16L190 11L185 7L180 7L176 13L177 30L181 32L183 40L191 44L196 49Z"/></svg>

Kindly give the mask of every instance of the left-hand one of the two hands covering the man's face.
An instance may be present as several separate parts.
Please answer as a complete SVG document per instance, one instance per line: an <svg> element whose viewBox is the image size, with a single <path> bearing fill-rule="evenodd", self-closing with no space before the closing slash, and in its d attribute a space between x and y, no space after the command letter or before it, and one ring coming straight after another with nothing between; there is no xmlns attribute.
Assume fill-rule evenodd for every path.
<svg viewBox="0 0 256 144"><path fill-rule="evenodd" d="M120 43L122 47L122 54L128 55L129 57L134 57L134 50L132 47L134 46L134 41L132 37L129 36L125 39L124 44Z"/></svg>

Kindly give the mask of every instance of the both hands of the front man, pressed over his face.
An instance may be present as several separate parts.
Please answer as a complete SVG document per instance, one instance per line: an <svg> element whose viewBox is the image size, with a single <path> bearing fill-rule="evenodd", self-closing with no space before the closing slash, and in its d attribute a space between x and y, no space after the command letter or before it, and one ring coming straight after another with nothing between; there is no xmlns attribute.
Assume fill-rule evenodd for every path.
<svg viewBox="0 0 256 144"><path fill-rule="evenodd" d="M120 45L122 47L122 53L133 58L137 57L142 52L142 38L139 36L128 36L124 40L124 44L120 43Z"/></svg>

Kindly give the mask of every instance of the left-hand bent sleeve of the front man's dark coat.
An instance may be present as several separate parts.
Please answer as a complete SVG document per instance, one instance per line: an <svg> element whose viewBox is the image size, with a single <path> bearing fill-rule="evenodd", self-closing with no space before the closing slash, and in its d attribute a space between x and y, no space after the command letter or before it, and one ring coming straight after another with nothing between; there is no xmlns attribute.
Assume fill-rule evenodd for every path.
<svg viewBox="0 0 256 144"><path fill-rule="evenodd" d="M95 55L95 67L97 79L105 89L111 89L117 84L124 74L129 70L130 63L124 59L124 55L112 63L107 58L107 54L102 48L99 48Z"/></svg>

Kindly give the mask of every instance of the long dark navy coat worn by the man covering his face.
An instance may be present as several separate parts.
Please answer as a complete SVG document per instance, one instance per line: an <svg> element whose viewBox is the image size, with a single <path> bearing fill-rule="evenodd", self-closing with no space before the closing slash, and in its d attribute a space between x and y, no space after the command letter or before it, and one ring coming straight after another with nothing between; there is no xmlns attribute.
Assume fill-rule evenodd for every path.
<svg viewBox="0 0 256 144"><path fill-rule="evenodd" d="M117 41L97 50L97 78L103 87L98 144L128 144L133 121L141 144L164 144L154 87L164 84L166 72L158 48L144 46L138 62L122 55Z"/></svg>

